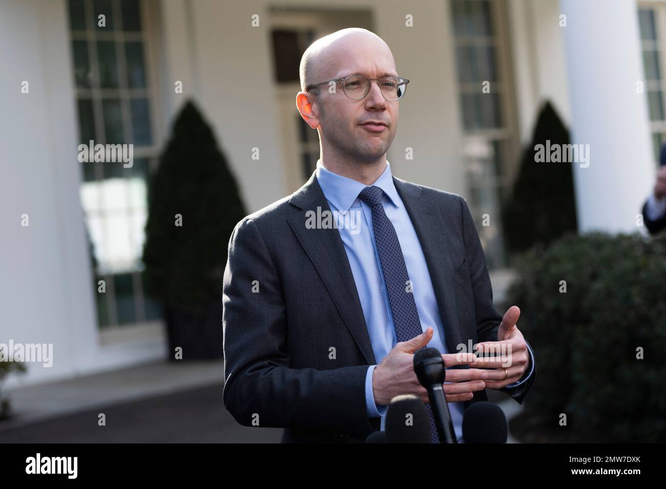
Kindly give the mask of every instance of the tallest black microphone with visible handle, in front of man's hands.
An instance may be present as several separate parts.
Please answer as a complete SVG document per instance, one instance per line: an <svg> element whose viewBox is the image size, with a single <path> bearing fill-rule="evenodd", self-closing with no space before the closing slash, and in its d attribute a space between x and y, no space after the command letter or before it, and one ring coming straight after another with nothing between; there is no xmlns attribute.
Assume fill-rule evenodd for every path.
<svg viewBox="0 0 666 489"><path fill-rule="evenodd" d="M430 407L435 418L440 443L458 443L449 405L444 395L446 368L442 354L436 348L424 348L414 353L414 372L419 383L428 390Z"/></svg>

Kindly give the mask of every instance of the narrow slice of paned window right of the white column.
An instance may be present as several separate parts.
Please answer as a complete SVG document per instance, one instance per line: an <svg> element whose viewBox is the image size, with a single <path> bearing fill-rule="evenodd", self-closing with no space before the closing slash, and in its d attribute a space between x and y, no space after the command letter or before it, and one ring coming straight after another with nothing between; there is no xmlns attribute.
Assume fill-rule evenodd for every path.
<svg viewBox="0 0 666 489"><path fill-rule="evenodd" d="M645 82L643 90L647 94L647 109L650 117L653 155L655 166L659 165L659 151L666 142L666 120L664 120L664 77L663 49L660 37L663 37L663 8L659 5L641 5L638 9L639 29L641 31L641 51Z"/></svg>

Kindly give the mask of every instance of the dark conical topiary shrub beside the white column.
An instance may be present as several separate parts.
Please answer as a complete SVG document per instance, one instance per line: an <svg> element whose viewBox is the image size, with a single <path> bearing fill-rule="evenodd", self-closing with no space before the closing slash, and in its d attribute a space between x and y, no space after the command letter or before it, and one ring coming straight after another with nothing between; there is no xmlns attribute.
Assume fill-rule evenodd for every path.
<svg viewBox="0 0 666 489"><path fill-rule="evenodd" d="M509 253L548 245L567 232L577 232L571 163L536 162L535 146L569 144L569 132L546 102L525 148L511 195L504 203L502 226Z"/></svg>

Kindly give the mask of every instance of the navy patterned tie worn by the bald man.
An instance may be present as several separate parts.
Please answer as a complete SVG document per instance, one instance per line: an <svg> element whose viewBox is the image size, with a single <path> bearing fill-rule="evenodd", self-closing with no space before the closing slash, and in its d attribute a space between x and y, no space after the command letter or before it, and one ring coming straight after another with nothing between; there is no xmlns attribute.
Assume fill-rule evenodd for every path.
<svg viewBox="0 0 666 489"><path fill-rule="evenodd" d="M388 291L398 341L409 341L423 333L423 328L416 310L414 294L407 291L407 281L410 277L407 274L407 265L396 229L386 216L384 206L382 206L383 194L384 191L381 188L372 186L361 190L358 198L372 209L372 230L374 231L380 263L382 263L382 272L384 273L384 281L386 281L386 291ZM439 443L440 437L437 433L430 403L426 403L426 408L430 416L431 441L432 443Z"/></svg>

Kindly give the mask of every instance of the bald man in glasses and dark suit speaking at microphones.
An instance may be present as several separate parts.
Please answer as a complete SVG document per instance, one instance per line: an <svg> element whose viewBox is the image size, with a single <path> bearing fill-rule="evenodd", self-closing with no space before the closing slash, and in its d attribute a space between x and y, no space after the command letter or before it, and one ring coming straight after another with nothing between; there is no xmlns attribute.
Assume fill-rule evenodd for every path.
<svg viewBox="0 0 666 489"><path fill-rule="evenodd" d="M502 318L494 307L464 199L392 176L386 152L408 80L386 43L356 28L323 37L304 53L300 82L296 104L321 158L300 190L230 238L224 405L240 424L285 428L282 442L362 442L396 395L430 410L413 358L435 347L463 441L462 414L485 388L521 403L534 382L519 309ZM511 365L474 363L458 346L478 342L510 347ZM432 414L431 424L439 442Z"/></svg>

